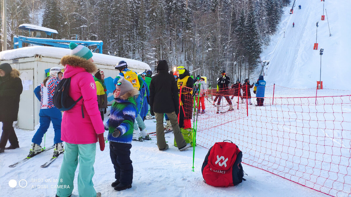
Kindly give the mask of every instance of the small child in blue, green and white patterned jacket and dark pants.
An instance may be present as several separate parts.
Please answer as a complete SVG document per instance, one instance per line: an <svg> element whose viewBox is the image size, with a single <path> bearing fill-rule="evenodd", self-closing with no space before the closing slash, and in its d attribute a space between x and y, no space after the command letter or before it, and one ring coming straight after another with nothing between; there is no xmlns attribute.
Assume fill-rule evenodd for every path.
<svg viewBox="0 0 351 197"><path fill-rule="evenodd" d="M139 91L121 77L113 92L115 101L111 106L110 119L105 123L110 141L110 156L115 172L111 186L117 190L132 187L133 165L130 158L133 137L133 124L137 114L136 96Z"/></svg>

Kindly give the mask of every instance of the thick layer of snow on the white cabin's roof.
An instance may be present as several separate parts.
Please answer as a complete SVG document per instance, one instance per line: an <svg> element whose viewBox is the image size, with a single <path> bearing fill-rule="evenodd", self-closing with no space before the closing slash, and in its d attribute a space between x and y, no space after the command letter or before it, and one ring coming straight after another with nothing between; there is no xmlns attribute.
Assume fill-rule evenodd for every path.
<svg viewBox="0 0 351 197"><path fill-rule="evenodd" d="M46 47L46 46L32 46L22 47L18 49L5 50L0 52L0 60L13 60L24 57L33 57L34 55L42 55L43 57L54 57L61 58L71 53L70 49L58 48L58 47ZM93 60L95 62L102 63L106 66L114 66L119 61L124 60L128 66L134 69L150 70L150 66L147 63L127 59L123 57L117 57L112 55L105 55L100 53L93 53Z"/></svg>

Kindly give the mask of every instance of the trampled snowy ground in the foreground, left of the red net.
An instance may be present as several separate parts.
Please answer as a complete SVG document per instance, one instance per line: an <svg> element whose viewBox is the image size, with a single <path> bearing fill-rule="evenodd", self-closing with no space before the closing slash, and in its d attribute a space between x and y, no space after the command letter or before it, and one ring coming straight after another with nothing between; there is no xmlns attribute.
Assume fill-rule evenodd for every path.
<svg viewBox="0 0 351 197"><path fill-rule="evenodd" d="M154 120L154 119L153 119ZM146 120L147 131L155 130L153 120ZM1 124L1 123L0 123ZM1 127L1 125L0 125ZM36 129L38 126L36 127ZM51 156L49 150L39 154L29 161L15 168L9 168L20 159L26 157L31 145L34 131L15 129L19 138L20 148L6 150L0 154L0 191L9 196L47 197L55 196L56 185L54 180L58 178L62 156L59 156L47 168L40 168ZM53 127L50 126L46 135L46 147L53 143ZM105 133L107 136L107 133ZM170 148L159 151L152 138L147 142L132 142L131 159L133 161L133 184L132 188L125 191L114 191L111 183L114 181L114 169L110 159L108 143L104 151L100 151L97 145L95 158L94 187L102 193L102 196L326 196L323 193L311 190L284 178L273 175L243 164L247 181L229 188L215 188L203 182L201 166L208 149L197 146L195 149L194 171L192 171L192 149L180 152L173 146L173 133L165 135ZM155 137L155 136L152 136ZM9 145L9 144L8 144ZM42 143L44 145L44 141ZM78 169L78 168L77 168ZM77 176L75 174L74 190L72 197L78 196ZM14 179L27 181L27 186L21 188L18 184L15 188L9 187L8 182ZM32 180L33 179L33 180ZM34 179L43 179L44 182L32 182ZM46 182L51 181L51 182ZM20 182L21 186L25 181ZM39 188L38 188L39 185ZM32 188L33 187L33 188ZM5 195L5 196L6 196Z"/></svg>

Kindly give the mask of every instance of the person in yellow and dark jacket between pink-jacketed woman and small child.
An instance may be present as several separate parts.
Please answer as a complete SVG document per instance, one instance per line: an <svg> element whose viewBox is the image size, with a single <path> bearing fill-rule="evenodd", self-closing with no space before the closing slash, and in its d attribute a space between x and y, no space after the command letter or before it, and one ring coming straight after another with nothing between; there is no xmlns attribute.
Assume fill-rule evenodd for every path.
<svg viewBox="0 0 351 197"><path fill-rule="evenodd" d="M98 95L98 105L101 114L101 119L104 121L104 114L106 114L107 108L107 89L104 82L105 74L104 71L98 69L98 72L94 74L96 93Z"/></svg>

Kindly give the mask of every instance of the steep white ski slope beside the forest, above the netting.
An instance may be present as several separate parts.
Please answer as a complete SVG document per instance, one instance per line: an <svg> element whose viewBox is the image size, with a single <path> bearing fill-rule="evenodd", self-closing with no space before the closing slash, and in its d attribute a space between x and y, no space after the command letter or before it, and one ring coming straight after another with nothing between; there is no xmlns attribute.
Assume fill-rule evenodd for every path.
<svg viewBox="0 0 351 197"><path fill-rule="evenodd" d="M350 90L351 86L347 81L351 74L351 1L325 1L324 21L321 20L323 1L296 0L293 14L289 14L292 3L284 8L277 33L272 36L271 44L261 54L262 61L270 60L267 69L264 68L267 85L275 83L302 89L317 87L316 81L319 81L320 74L319 49L323 48L321 73L323 87ZM298 9L299 5L302 9ZM327 20L332 36L329 36ZM318 50L313 50L317 21ZM259 67L257 70L260 71L261 66ZM258 79L259 71L257 77L254 75L254 81Z"/></svg>

